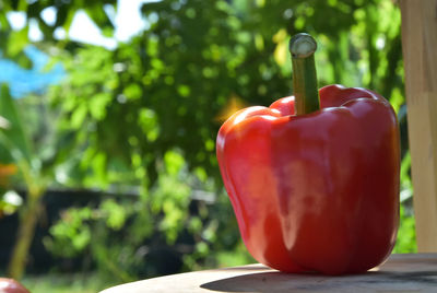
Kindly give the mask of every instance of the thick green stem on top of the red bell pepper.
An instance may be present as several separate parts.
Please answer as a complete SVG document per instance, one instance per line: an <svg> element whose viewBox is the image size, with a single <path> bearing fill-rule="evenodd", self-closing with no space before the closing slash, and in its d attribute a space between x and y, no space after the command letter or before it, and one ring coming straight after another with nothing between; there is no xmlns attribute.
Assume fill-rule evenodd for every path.
<svg viewBox="0 0 437 293"><path fill-rule="evenodd" d="M297 34L290 40L296 115L305 115L320 109L314 58L316 49L317 43L308 34Z"/></svg>

